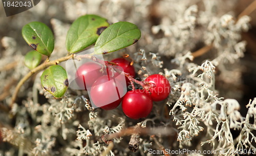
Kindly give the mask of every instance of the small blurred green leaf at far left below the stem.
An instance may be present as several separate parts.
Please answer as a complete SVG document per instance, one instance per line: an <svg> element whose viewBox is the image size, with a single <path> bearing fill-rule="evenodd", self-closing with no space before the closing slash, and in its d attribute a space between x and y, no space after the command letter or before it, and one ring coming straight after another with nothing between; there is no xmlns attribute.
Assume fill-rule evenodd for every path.
<svg viewBox="0 0 256 156"><path fill-rule="evenodd" d="M30 51L25 55L25 65L33 70L41 62L42 55L37 51Z"/></svg>

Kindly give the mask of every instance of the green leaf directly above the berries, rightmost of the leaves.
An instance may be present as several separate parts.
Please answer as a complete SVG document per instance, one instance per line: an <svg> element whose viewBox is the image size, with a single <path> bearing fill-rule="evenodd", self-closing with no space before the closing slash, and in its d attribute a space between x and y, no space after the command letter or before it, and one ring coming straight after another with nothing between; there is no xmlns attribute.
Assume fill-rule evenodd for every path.
<svg viewBox="0 0 256 156"><path fill-rule="evenodd" d="M95 43L93 54L105 54L131 46L140 39L138 27L127 21L119 21L106 28Z"/></svg>

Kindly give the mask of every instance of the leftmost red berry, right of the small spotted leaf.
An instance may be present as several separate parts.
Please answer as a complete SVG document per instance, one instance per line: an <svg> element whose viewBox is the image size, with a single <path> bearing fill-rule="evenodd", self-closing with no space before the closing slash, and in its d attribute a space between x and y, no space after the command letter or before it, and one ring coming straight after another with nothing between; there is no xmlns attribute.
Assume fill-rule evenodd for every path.
<svg viewBox="0 0 256 156"><path fill-rule="evenodd" d="M96 62L86 62L79 66L76 71L76 83L79 87L87 90L87 87L91 87L92 84L102 76L102 65Z"/></svg>

